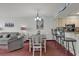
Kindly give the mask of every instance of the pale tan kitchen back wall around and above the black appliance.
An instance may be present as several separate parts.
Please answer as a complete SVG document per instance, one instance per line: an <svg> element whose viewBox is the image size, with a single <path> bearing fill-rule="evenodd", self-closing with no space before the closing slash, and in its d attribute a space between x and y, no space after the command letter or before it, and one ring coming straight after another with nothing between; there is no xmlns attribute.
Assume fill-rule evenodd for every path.
<svg viewBox="0 0 79 59"><path fill-rule="evenodd" d="M69 16L58 19L59 27L64 27L65 24L75 24L75 27L79 27L79 16Z"/></svg>

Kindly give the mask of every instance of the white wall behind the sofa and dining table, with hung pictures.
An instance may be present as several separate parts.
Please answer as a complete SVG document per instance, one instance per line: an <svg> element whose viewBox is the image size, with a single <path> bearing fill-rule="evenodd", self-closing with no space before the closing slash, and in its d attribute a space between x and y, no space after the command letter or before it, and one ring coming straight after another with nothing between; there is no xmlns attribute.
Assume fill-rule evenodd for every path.
<svg viewBox="0 0 79 59"><path fill-rule="evenodd" d="M42 34L47 34L47 39L52 39L51 35L51 28L56 27L56 20L53 19L53 17L43 17L44 19L44 29L41 30ZM12 22L14 23L14 27L5 27L6 22ZM2 26L3 30L0 30L0 32L22 32L20 30L20 27L22 25L26 25L27 30L26 34L29 33L29 35L35 34L37 32L36 30L36 22L34 21L34 17L25 17L25 18L18 18L18 17L0 17L0 26Z"/></svg>

